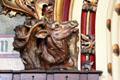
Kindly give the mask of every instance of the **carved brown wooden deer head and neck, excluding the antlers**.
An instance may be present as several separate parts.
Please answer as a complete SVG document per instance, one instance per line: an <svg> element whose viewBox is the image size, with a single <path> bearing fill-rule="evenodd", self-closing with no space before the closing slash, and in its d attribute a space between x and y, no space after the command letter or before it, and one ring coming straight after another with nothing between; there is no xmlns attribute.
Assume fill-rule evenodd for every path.
<svg viewBox="0 0 120 80"><path fill-rule="evenodd" d="M57 66L74 66L67 41L78 29L76 21L39 21L30 29L16 27L14 47L21 52L26 69L50 69Z"/></svg>

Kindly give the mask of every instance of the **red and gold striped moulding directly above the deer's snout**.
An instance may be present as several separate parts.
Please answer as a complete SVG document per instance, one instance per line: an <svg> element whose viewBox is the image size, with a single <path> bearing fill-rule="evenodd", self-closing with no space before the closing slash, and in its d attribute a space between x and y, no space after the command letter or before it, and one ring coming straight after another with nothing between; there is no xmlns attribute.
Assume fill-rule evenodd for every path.
<svg viewBox="0 0 120 80"><path fill-rule="evenodd" d="M72 17L73 0L55 0L54 19L56 21L68 21Z"/></svg>

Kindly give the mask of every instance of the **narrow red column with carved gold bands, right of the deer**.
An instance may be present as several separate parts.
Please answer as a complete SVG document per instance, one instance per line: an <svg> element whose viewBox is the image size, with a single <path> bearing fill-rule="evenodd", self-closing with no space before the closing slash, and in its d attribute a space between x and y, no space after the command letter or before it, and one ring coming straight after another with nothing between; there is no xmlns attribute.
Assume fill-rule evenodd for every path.
<svg viewBox="0 0 120 80"><path fill-rule="evenodd" d="M81 16L81 68L95 69L95 19L97 0L84 0Z"/></svg>

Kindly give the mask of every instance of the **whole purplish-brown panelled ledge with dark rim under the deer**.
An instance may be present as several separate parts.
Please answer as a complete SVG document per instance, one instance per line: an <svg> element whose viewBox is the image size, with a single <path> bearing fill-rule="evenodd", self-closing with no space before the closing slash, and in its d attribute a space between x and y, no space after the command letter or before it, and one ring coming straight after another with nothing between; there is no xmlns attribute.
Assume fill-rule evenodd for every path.
<svg viewBox="0 0 120 80"><path fill-rule="evenodd" d="M101 71L0 71L0 80L99 80Z"/></svg>

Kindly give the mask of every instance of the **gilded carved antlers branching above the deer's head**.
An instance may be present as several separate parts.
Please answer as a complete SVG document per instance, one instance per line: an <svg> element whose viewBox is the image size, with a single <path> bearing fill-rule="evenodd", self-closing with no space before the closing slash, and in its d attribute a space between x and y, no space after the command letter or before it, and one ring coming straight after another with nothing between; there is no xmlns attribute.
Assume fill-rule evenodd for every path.
<svg viewBox="0 0 120 80"><path fill-rule="evenodd" d="M53 0L2 0L2 4L4 6L2 13L9 13L10 16L22 12L34 17L36 20L53 19ZM14 11L9 12L10 10Z"/></svg>

